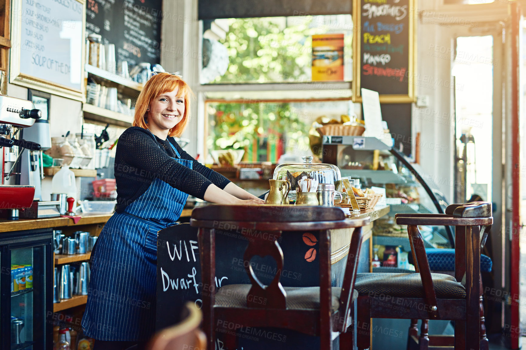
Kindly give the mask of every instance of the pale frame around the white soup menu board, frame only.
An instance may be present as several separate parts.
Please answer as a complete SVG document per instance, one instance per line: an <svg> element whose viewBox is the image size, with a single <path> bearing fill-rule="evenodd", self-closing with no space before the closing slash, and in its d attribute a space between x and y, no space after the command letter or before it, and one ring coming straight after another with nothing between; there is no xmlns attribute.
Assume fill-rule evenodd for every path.
<svg viewBox="0 0 526 350"><path fill-rule="evenodd" d="M46 80L41 77L35 77L21 72L21 58L22 58L22 18L24 14L23 2L27 0L13 0L11 10L11 39L12 43L16 43L11 47L9 59L9 82L29 89L44 91L57 96L86 102L86 84L85 84L85 60L86 60L86 2L85 0L70 0L78 3L82 12L79 14L79 20L82 19L82 36L80 37L80 47L82 52L80 54L80 70L78 79L80 81L80 88L65 86L55 81ZM35 0L37 1L37 0ZM38 0L44 3L49 0ZM54 14L60 19L60 14Z"/></svg>

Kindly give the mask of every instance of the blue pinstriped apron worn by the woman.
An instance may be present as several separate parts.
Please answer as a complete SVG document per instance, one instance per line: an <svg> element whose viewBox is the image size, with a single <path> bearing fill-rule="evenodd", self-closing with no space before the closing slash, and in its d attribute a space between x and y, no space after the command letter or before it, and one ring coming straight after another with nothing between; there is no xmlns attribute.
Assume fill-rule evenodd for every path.
<svg viewBox="0 0 526 350"><path fill-rule="evenodd" d="M192 168L192 162L178 163ZM146 341L155 332L157 232L174 225L188 194L156 178L146 192L115 213L91 256L84 334L103 341Z"/></svg>

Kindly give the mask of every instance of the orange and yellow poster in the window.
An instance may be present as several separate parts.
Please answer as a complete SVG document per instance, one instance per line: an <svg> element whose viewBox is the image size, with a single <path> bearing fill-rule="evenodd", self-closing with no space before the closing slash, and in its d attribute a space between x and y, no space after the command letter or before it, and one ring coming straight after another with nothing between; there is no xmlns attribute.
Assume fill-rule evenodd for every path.
<svg viewBox="0 0 526 350"><path fill-rule="evenodd" d="M312 80L343 81L343 34L312 36Z"/></svg>

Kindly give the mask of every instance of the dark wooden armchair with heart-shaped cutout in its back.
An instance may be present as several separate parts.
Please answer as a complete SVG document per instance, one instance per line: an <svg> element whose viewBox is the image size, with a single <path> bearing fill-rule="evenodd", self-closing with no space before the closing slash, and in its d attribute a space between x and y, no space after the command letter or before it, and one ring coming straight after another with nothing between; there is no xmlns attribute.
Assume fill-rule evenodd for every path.
<svg viewBox="0 0 526 350"><path fill-rule="evenodd" d="M344 338L350 348L352 333L348 331L354 315L353 302L358 296L353 289L358 255L361 243L369 238L362 235L361 227L368 223L368 217L346 219L343 211L335 207L210 205L195 208L190 224L199 227L203 323L209 347L214 348L216 324L221 320L237 327L288 328L319 336L321 349L330 349L332 332L338 332L345 334L340 341ZM341 288L331 287L329 230L350 227L355 230L350 239L343 284ZM251 284L224 285L216 291L215 235L218 229L247 237L248 247L243 260ZM278 240L290 231L319 235L320 287L282 287L280 271L284 256ZM253 232L267 235L253 235ZM250 259L255 256L270 256L276 260L277 272L267 286L252 270ZM228 345L235 344L227 343L230 349L233 347Z"/></svg>

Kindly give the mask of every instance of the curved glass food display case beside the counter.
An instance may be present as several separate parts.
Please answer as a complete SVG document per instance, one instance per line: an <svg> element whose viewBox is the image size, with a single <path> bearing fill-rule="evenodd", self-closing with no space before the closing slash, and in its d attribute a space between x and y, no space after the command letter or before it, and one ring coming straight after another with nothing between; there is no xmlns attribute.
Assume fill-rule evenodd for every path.
<svg viewBox="0 0 526 350"><path fill-rule="evenodd" d="M418 164L411 164L406 156L375 137L323 136L322 162L337 165L342 178L359 179L362 188L385 188L389 215L376 220L373 226L372 242L379 248L380 260L387 259L391 249L398 253L411 251L407 227L396 224L395 214L443 214L448 205L438 186L424 181ZM426 247L454 247L449 226L419 229ZM406 268L400 263L397 267Z"/></svg>

